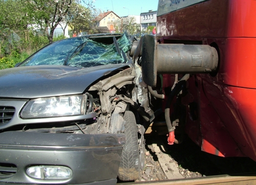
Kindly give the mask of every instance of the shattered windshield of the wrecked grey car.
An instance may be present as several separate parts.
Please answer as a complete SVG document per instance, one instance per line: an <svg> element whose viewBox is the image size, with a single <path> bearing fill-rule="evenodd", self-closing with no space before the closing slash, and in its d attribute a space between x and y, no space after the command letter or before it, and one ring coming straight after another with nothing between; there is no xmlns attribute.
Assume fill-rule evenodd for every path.
<svg viewBox="0 0 256 185"><path fill-rule="evenodd" d="M74 37L47 45L19 66L70 65L93 67L126 63L126 53L131 48L132 42L127 34Z"/></svg>

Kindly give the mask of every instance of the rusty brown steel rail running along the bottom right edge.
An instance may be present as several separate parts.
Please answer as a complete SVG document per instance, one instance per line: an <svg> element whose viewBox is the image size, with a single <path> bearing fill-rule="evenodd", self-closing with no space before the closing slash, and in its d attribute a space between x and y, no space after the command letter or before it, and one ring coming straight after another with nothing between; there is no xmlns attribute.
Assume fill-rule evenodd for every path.
<svg viewBox="0 0 256 185"><path fill-rule="evenodd" d="M195 177L186 179L171 179L158 181L140 181L140 182L119 182L117 185L201 185L201 184L218 184L218 185L253 185L256 184L256 173L238 174L238 175L216 175L206 177Z"/></svg>

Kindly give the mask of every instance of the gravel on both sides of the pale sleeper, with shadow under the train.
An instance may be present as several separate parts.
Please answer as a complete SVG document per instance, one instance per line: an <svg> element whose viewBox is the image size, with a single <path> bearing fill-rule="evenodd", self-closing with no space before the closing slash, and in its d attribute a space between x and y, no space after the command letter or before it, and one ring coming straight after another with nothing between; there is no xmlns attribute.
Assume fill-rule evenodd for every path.
<svg viewBox="0 0 256 185"><path fill-rule="evenodd" d="M145 168L136 181L165 180L165 176L153 147L153 138L146 136ZM165 142L166 136L159 136ZM166 142L165 142L166 143ZM240 174L256 172L256 162L247 157L218 157L201 151L187 136L180 145L165 145L170 156L169 163L175 163L183 178ZM170 169L171 170L171 169Z"/></svg>

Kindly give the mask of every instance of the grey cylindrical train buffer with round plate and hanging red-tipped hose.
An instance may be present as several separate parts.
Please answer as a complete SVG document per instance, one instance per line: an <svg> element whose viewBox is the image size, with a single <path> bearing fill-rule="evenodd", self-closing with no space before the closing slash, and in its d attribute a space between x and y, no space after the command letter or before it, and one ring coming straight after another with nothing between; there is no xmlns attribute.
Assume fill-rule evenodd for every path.
<svg viewBox="0 0 256 185"><path fill-rule="evenodd" d="M145 35L133 50L134 60L141 57L142 77L148 91L159 99L165 95L157 94L152 86L157 85L158 74L176 74L176 81L168 95L165 105L165 121L168 128L168 144L181 143L175 138L176 121L170 120L170 105L174 97L184 88L189 74L210 73L218 67L217 50L209 45L161 44L152 35ZM186 74L178 81L178 74Z"/></svg>

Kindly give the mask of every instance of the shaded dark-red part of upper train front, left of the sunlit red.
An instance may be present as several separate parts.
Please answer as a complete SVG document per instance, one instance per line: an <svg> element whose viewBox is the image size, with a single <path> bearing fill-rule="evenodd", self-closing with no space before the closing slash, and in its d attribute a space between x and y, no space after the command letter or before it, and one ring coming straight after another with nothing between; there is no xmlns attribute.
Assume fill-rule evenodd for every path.
<svg viewBox="0 0 256 185"><path fill-rule="evenodd" d="M211 0L158 16L157 36L195 39L218 34L225 37L227 5L225 0Z"/></svg>

